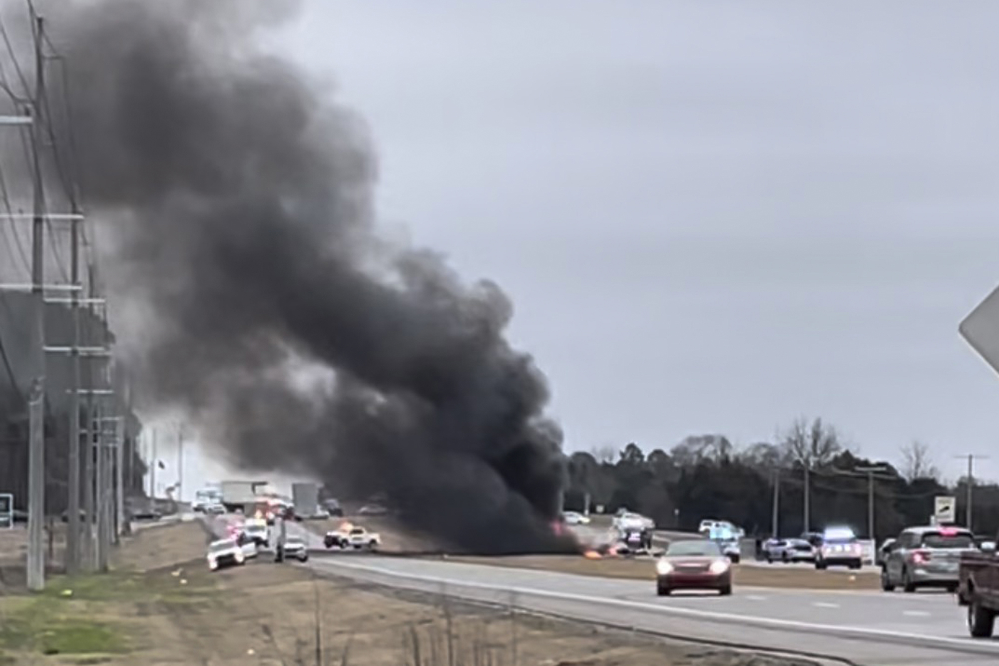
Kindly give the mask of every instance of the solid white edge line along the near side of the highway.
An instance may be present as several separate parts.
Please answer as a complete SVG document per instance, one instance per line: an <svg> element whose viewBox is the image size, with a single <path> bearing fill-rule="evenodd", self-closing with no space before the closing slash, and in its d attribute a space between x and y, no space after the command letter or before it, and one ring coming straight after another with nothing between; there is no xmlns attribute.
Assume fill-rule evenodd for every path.
<svg viewBox="0 0 999 666"><path fill-rule="evenodd" d="M758 625L764 627L779 627L783 629L799 629L813 632L828 633L833 635L853 635L864 638L891 638L896 641L916 642L932 646L951 645L958 648L972 648L975 652L990 653L999 650L999 645L983 643L969 638L953 638L950 636L926 636L924 634L912 634L905 631L891 631L888 629L871 629L868 627L853 627L850 625L819 624L817 622L802 622L800 620L780 620L777 618L753 617L751 615L738 615L736 613L719 613L716 611L703 611L681 606L669 606L665 604L653 604L640 601L625 601L623 599L613 599L608 597L594 597L586 594L574 594L571 592L553 592L550 590L539 590L533 588L511 587L508 585L490 585L488 583L476 583L472 581L456 580L454 578L443 578L440 576L427 576L424 574L405 573L402 571L392 571L382 567L370 566L366 564L348 564L346 562L333 562L331 560L313 560L314 566L321 565L331 569L338 567L342 569L355 569L370 573L382 574L384 576L404 578L409 580L423 581L425 583L436 583L438 585L454 585L472 589L489 590L491 592L507 592L525 597L547 597L548 599L561 599L564 601L581 602L587 605L618 606L635 610L647 610L654 613L685 615L687 617L701 618L704 620L739 622L742 624Z"/></svg>

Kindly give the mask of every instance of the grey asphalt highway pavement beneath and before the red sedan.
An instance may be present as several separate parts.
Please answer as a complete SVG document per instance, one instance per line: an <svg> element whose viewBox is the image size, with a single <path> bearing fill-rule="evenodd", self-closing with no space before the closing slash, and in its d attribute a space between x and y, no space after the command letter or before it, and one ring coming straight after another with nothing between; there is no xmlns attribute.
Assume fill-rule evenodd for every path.
<svg viewBox="0 0 999 666"><path fill-rule="evenodd" d="M759 648L845 657L870 666L994 664L999 641L967 638L947 594L738 588L731 597L656 597L651 580L378 555L323 556L320 571L514 605L617 626Z"/></svg>

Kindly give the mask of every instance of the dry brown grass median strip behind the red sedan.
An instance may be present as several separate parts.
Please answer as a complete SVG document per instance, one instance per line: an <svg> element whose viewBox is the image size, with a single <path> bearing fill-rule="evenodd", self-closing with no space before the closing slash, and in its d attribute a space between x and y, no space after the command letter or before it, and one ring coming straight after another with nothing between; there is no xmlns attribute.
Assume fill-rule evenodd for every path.
<svg viewBox="0 0 999 666"><path fill-rule="evenodd" d="M605 558L588 560L572 555L519 555L511 557L450 557L456 562L472 562L492 566L520 567L544 571L654 580L655 570L647 558ZM879 589L877 573L860 571L850 574L841 571L816 571L798 568L767 568L733 565L734 584L752 587L787 587L813 590L875 590Z"/></svg>

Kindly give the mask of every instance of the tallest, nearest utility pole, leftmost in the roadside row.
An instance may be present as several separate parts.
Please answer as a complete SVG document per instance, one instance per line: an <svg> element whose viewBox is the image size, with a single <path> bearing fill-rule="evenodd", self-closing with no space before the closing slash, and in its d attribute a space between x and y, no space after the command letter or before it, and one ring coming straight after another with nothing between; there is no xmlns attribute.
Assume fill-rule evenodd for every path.
<svg viewBox="0 0 999 666"><path fill-rule="evenodd" d="M28 415L28 589L38 592L45 588L45 190L42 184L41 118L45 94L45 61L42 57L42 17L34 16L35 25L35 98L32 104L34 122L31 125L31 157L34 174L31 224L31 301L34 338L31 345L32 383L31 407Z"/></svg>

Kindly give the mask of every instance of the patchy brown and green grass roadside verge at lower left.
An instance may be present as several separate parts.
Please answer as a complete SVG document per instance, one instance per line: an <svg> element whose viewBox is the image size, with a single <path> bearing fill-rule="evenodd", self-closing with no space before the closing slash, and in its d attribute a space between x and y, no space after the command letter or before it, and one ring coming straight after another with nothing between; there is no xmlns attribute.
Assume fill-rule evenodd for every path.
<svg viewBox="0 0 999 666"><path fill-rule="evenodd" d="M206 537L199 531L193 524L148 530L122 545L109 574L56 579L42 595L0 598L0 664L808 663L319 578L270 558L213 574L200 561Z"/></svg>

